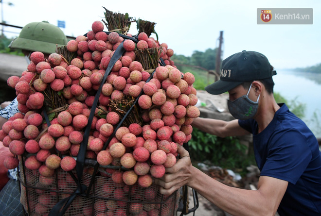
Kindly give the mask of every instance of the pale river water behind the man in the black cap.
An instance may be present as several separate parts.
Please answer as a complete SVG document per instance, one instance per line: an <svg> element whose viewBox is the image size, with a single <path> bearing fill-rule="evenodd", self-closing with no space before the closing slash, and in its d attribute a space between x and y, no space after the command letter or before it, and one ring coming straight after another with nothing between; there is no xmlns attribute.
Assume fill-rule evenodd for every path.
<svg viewBox="0 0 321 216"><path fill-rule="evenodd" d="M321 137L321 74L278 70L273 81L274 92L280 93L287 101L305 104L303 121L317 137Z"/></svg>

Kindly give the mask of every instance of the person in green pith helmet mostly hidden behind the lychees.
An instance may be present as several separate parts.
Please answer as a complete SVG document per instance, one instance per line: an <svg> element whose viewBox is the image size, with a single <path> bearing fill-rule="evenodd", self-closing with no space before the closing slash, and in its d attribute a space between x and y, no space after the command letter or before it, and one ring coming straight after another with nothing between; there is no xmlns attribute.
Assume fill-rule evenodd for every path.
<svg viewBox="0 0 321 216"><path fill-rule="evenodd" d="M48 59L51 53L55 53L57 47L66 45L68 42L66 35L55 25L47 21L32 22L24 26L19 36L14 39L9 48L21 49L30 64L30 55L34 51L40 51ZM14 99L4 109L0 110L0 128L14 114L18 113L18 101ZM11 154L9 148L2 148L0 142L0 155ZM4 157L2 157L4 158ZM0 213L2 215L24 216L24 210L20 203L20 192L17 181L17 169L9 170L0 164Z"/></svg>

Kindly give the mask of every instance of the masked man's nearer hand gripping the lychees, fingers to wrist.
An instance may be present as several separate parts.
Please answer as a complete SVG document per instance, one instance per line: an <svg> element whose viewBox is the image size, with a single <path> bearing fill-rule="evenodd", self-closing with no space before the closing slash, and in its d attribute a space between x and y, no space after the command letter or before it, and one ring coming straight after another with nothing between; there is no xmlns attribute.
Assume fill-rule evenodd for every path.
<svg viewBox="0 0 321 216"><path fill-rule="evenodd" d="M182 146L178 147L180 159L178 162L166 168L165 175L160 179L155 179L155 183L160 185L160 193L169 195L175 192L181 186L188 184L191 181L192 163L190 154Z"/></svg>

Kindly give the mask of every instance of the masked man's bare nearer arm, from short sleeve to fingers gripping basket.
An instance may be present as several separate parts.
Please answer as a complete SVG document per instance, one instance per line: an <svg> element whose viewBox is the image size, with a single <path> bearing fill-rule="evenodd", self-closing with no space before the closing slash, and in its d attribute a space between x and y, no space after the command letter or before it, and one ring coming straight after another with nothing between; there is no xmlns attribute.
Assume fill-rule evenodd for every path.
<svg viewBox="0 0 321 216"><path fill-rule="evenodd" d="M155 183L162 194L172 194L183 185L195 189L203 197L232 215L274 216L285 194L288 182L261 176L258 190L246 190L219 183L192 166L188 151L178 149L181 159Z"/></svg>

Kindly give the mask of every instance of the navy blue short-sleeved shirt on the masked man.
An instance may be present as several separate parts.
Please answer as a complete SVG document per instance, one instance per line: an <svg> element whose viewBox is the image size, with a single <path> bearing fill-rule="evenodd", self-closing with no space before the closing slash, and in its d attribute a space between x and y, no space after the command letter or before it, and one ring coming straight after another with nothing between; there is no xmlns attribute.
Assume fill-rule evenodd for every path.
<svg viewBox="0 0 321 216"><path fill-rule="evenodd" d="M278 208L280 216L321 215L321 152L314 134L285 104L261 132L254 119L239 120L253 134L261 176L285 180L288 186Z"/></svg>

